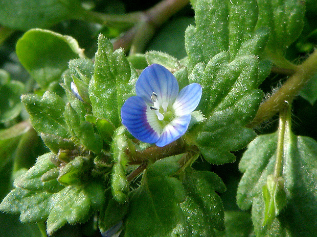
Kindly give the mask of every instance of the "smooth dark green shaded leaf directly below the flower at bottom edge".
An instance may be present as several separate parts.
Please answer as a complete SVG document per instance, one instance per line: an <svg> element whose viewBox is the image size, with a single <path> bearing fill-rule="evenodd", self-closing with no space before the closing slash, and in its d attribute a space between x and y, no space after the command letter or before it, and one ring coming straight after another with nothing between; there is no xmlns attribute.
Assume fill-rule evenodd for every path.
<svg viewBox="0 0 317 237"><path fill-rule="evenodd" d="M183 221L178 203L185 199L184 188L178 179L165 176L178 170L171 164L161 160L143 173L141 186L130 198L125 236L165 236Z"/></svg>

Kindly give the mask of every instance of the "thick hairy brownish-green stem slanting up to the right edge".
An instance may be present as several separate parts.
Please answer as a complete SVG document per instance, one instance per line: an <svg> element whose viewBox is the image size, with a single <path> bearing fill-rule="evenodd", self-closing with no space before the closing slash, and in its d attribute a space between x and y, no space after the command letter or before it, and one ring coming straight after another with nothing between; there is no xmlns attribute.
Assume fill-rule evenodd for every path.
<svg viewBox="0 0 317 237"><path fill-rule="evenodd" d="M264 103L261 104L255 118L247 127L255 127L273 117L284 107L284 101L292 102L293 98L317 72L317 50L315 50L301 65L296 66L295 73L284 85Z"/></svg>

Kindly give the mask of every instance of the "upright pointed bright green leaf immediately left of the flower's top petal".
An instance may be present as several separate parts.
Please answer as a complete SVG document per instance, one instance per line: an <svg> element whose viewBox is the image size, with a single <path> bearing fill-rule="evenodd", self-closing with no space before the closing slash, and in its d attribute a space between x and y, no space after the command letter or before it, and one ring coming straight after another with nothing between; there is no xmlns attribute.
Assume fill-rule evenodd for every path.
<svg viewBox="0 0 317 237"><path fill-rule="evenodd" d="M89 98L94 115L108 120L115 127L121 123L119 115L125 99L135 90L137 74L131 70L123 49L113 51L110 41L99 35L95 75L89 84Z"/></svg>

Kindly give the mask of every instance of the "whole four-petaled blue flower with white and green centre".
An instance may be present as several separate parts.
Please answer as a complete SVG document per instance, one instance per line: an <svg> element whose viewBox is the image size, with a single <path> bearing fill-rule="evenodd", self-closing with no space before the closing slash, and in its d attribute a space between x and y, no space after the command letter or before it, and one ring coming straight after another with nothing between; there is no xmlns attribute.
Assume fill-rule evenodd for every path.
<svg viewBox="0 0 317 237"><path fill-rule="evenodd" d="M178 93L174 75L159 64L145 68L135 84L137 96L121 108L122 124L137 139L165 146L186 133L201 98L201 86L190 84Z"/></svg>

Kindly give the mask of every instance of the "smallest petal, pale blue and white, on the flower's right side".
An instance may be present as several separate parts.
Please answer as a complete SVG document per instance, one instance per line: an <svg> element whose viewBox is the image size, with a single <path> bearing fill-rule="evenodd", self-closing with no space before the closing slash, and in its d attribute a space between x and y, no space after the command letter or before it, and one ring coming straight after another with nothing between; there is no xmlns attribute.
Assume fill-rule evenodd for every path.
<svg viewBox="0 0 317 237"><path fill-rule="evenodd" d="M173 109L176 116L183 116L193 112L201 99L202 89L197 83L184 87L178 94Z"/></svg>

